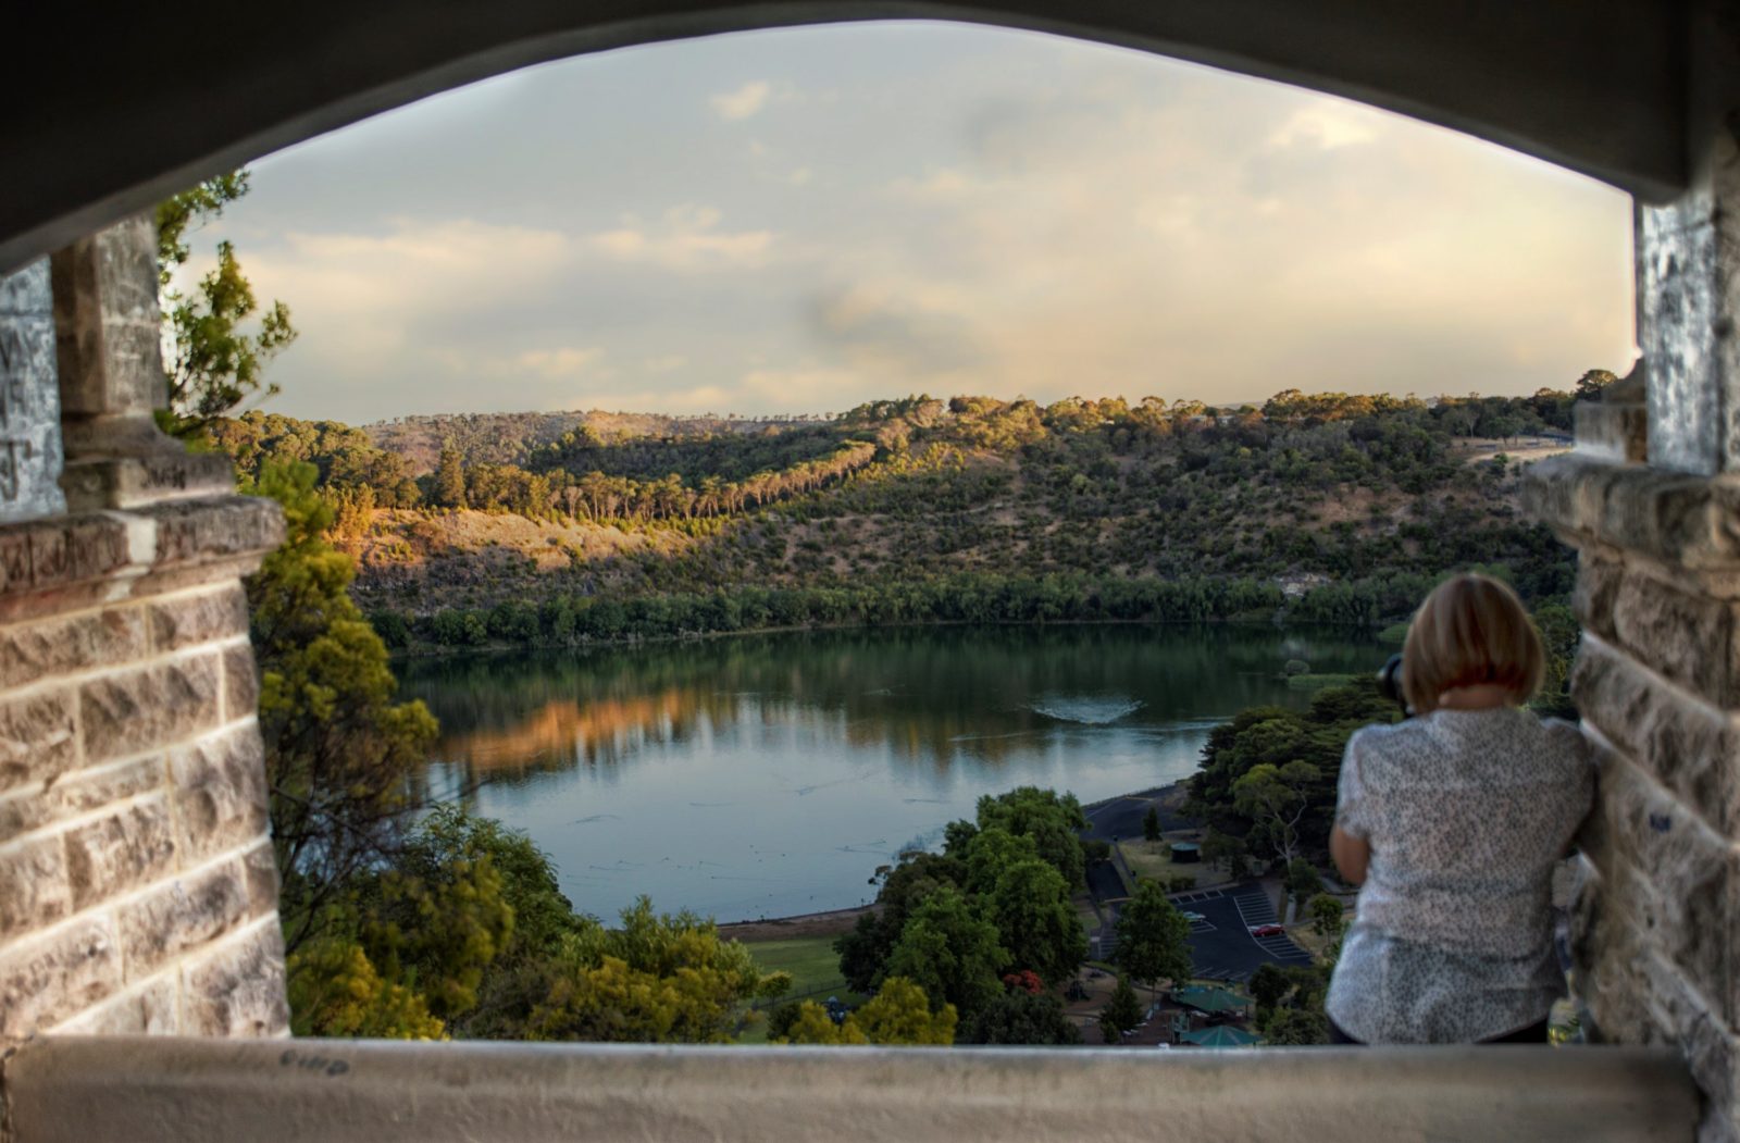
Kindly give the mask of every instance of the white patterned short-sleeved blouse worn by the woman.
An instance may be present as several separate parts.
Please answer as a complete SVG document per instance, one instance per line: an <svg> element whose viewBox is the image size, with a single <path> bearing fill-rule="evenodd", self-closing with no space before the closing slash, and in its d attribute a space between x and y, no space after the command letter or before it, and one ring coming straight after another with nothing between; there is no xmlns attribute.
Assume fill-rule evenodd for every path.
<svg viewBox="0 0 1740 1143"><path fill-rule="evenodd" d="M1357 731L1336 825L1371 863L1329 1018L1368 1044L1470 1044L1543 1019L1564 995L1552 866L1592 797L1582 732L1514 706Z"/></svg>

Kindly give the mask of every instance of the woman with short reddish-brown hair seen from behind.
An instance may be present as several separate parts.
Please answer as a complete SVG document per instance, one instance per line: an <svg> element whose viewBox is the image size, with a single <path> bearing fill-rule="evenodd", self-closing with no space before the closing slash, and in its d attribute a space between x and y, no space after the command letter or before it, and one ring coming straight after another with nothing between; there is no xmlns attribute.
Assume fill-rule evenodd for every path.
<svg viewBox="0 0 1740 1143"><path fill-rule="evenodd" d="M1413 717L1362 727L1342 759L1329 852L1362 887L1326 1000L1335 1042L1547 1042L1564 995L1552 866L1594 771L1575 725L1522 710L1542 659L1496 579L1456 576L1415 614Z"/></svg>

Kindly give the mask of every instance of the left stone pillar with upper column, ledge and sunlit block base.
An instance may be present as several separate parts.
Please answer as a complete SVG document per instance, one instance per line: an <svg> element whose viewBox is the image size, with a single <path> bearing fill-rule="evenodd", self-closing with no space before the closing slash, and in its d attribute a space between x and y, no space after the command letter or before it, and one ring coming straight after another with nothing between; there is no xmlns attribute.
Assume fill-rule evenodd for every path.
<svg viewBox="0 0 1740 1143"><path fill-rule="evenodd" d="M284 524L151 421L150 224L57 252L52 289L71 513L0 524L0 1047L284 1033L240 583Z"/></svg>

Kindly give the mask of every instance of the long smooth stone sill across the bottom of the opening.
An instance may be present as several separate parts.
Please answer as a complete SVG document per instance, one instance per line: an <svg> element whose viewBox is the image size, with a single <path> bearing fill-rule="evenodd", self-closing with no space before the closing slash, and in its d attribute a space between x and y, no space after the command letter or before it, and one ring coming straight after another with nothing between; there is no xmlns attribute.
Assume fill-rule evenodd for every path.
<svg viewBox="0 0 1740 1143"><path fill-rule="evenodd" d="M7 1061L5 1101L21 1143L1088 1143L1108 1124L1141 1140L1691 1143L1700 1110L1686 1065L1643 1047L1159 1053L193 1037L40 1037Z"/></svg>

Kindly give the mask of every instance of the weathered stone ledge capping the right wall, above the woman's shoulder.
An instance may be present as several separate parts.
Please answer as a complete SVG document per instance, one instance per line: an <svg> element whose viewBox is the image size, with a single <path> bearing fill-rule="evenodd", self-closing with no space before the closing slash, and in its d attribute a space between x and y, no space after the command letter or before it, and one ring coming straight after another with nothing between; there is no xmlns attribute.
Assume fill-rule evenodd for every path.
<svg viewBox="0 0 1740 1143"><path fill-rule="evenodd" d="M1731 477L1568 452L1528 468L1522 508L1580 548L1594 541L1669 567L1728 574L1730 593L1740 593L1740 482Z"/></svg>

